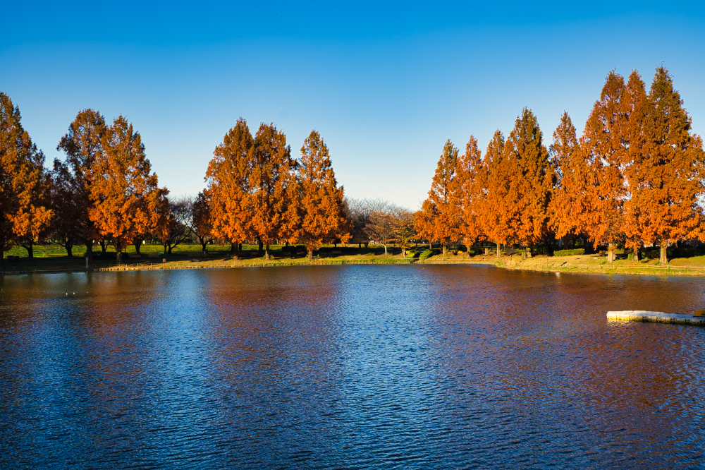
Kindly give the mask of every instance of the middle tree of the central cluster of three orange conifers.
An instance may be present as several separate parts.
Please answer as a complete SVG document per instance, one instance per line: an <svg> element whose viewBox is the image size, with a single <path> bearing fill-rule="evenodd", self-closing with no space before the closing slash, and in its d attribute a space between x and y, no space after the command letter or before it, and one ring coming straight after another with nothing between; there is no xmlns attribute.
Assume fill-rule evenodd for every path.
<svg viewBox="0 0 705 470"><path fill-rule="evenodd" d="M264 257L269 260L269 245L293 239L300 224L294 174L297 164L291 159L286 135L272 123L259 126L250 152L250 193L245 207L252 233L264 244Z"/></svg>

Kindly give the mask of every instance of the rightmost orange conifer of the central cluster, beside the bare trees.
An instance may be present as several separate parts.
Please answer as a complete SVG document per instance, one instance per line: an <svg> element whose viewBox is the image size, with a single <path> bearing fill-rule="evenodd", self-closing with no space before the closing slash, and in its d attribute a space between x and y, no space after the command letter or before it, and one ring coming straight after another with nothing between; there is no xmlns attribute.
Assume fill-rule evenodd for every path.
<svg viewBox="0 0 705 470"><path fill-rule="evenodd" d="M343 207L343 188L338 188L328 146L317 131L311 131L301 147L296 202L299 222L293 238L305 244L309 260L321 244L350 231Z"/></svg>

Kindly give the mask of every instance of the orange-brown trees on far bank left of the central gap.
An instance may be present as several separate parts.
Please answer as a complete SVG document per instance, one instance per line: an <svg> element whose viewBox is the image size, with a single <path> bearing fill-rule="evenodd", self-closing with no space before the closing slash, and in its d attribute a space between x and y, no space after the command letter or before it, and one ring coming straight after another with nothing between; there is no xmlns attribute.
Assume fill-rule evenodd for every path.
<svg viewBox="0 0 705 470"><path fill-rule="evenodd" d="M23 129L18 107L0 92L0 246L24 246L30 257L37 239L66 248L111 243L121 253L156 238L165 253L194 236L207 243L275 241L305 243L309 257L326 241L349 239L343 188L319 133L305 140L295 160L286 136L273 124L251 135L240 119L216 147L207 188L197 197L169 198L145 155L140 133L118 116L111 125L93 109L78 113L57 150L66 159L44 168L44 155ZM346 238L347 237L347 238ZM1 263L1 260L0 260Z"/></svg>

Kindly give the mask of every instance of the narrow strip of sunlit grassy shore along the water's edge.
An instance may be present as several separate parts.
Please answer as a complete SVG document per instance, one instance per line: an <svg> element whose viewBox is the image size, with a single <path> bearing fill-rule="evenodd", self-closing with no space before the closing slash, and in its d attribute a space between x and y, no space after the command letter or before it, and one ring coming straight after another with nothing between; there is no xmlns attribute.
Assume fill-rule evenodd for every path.
<svg viewBox="0 0 705 470"><path fill-rule="evenodd" d="M168 259L168 258L167 258ZM688 260L689 258L677 258L678 260ZM32 263L34 266L21 266L22 263ZM63 262L63 263L62 263ZM27 274L58 274L62 272L123 272L123 271L143 271L143 270L184 270L184 269L217 269L224 267L284 267L284 266L339 266L339 265L494 265L508 270L539 271L539 272L565 272L577 274L601 274L601 275L660 275L660 276L689 276L705 277L705 265L683 265L680 264L661 266L657 264L634 263L627 260L618 260L612 265L606 264L601 257L595 255L576 255L565 257L537 256L521 260L517 255L502 256L496 258L495 255L476 255L472 258L467 256L448 256L442 258L440 255L433 256L427 260L417 260L410 258L400 258L392 255L387 258L379 255L349 255L331 256L314 259L306 258L278 258L265 261L262 258L250 258L245 260L232 260L229 258L182 258L168 259L166 263L147 263L146 261L125 260L120 265L106 263L104 261L94 262L93 265L85 267L82 259L54 259L36 258L34 260L23 260L16 262L20 264L19 269L8 269L14 267L15 263L5 263L1 275L27 275ZM51 266L38 267L37 264L51 263ZM74 266L67 266L73 264ZM24 268L24 269L23 269Z"/></svg>

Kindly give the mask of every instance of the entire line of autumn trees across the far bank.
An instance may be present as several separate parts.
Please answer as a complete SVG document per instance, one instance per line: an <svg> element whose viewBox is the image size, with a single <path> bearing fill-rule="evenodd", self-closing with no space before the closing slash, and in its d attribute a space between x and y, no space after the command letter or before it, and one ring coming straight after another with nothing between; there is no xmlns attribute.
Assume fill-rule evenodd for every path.
<svg viewBox="0 0 705 470"><path fill-rule="evenodd" d="M32 255L51 240L73 254L111 243L137 252L146 239L164 251L188 239L203 251L217 240L269 245L302 243L312 257L323 243L378 241L408 247L419 239L471 245L481 241L532 247L582 239L637 253L703 239L704 152L692 135L673 80L656 70L646 93L639 74L627 83L611 72L578 140L567 113L544 147L537 119L524 109L505 139L496 131L484 157L470 137L465 154L443 147L429 198L416 213L384 200L346 198L329 149L317 131L291 156L286 135L244 119L216 146L197 196L160 188L140 133L123 116L112 124L94 109L78 113L61 138L66 159L44 167L44 155L0 92L0 246Z"/></svg>

